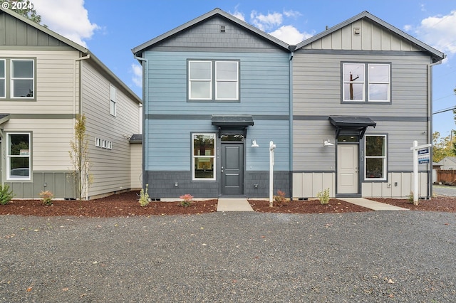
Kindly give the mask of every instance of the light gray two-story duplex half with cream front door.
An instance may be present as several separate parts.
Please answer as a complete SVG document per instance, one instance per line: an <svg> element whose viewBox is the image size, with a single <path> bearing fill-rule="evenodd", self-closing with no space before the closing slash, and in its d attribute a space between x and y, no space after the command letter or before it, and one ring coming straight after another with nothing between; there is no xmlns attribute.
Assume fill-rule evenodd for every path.
<svg viewBox="0 0 456 303"><path fill-rule="evenodd" d="M432 65L443 58L367 11L299 43L293 196L410 195L410 147L432 142ZM419 171L418 194L430 197L432 167Z"/></svg>

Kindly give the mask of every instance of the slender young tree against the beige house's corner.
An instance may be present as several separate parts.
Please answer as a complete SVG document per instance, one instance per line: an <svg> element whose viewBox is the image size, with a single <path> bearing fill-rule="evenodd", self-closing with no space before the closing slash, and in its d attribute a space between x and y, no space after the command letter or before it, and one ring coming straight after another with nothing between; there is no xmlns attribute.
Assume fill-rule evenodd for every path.
<svg viewBox="0 0 456 303"><path fill-rule="evenodd" d="M73 180L78 188L78 198L81 204L83 196L88 193L92 184L90 176L90 159L88 149L88 134L86 133L86 115L78 115L74 125L74 139L70 142L70 159L73 163Z"/></svg>

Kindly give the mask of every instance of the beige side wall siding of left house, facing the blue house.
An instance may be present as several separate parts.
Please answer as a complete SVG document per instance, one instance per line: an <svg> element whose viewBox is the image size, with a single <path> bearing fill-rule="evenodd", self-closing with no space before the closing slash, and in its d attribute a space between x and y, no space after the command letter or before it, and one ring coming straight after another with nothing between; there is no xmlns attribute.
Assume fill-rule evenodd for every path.
<svg viewBox="0 0 456 303"><path fill-rule="evenodd" d="M110 115L110 83L90 63L83 62L82 112L86 115L93 184L89 196L130 188L129 137L139 132L139 105L116 87L117 117ZM112 149L95 147L95 137L112 142Z"/></svg>

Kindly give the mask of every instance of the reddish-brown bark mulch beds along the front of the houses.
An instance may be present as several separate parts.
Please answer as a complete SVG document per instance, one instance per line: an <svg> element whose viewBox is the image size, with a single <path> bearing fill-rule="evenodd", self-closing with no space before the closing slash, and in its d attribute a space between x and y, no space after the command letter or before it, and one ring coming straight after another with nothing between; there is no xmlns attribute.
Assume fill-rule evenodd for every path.
<svg viewBox="0 0 456 303"><path fill-rule="evenodd" d="M414 206L405 199L373 198L383 203L409 208L413 211L443 211L456 213L456 197L437 196L431 200L420 200ZM269 207L268 201L249 200L254 211L264 213L353 213L371 211L336 198L326 205L318 200L288 201L284 205L274 202ZM128 217L128 216L166 216L194 215L217 211L217 200L194 201L191 206L184 207L175 202L150 202L140 206L139 192L130 191L91 201L53 201L53 205L45 206L41 200L12 200L0 205L0 215L22 216L86 216L86 217Z"/></svg>

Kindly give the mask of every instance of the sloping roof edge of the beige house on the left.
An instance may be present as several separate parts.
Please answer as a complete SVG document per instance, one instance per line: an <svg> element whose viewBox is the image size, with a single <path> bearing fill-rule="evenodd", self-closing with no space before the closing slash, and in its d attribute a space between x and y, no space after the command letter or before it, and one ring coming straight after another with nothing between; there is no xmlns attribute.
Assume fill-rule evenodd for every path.
<svg viewBox="0 0 456 303"><path fill-rule="evenodd" d="M104 63L101 62L100 59L98 59L95 55L93 55L93 53L90 52L90 50L88 50L88 48L85 48L85 47L79 45L78 43L75 43L75 42L71 41L70 39L59 35L55 31L51 31L50 29L48 29L44 26L41 26L40 24L38 24L36 22L31 21L30 19L28 19L24 16L21 16L20 14L17 14L15 11L11 11L11 9L3 9L0 7L0 14L1 13L9 14L10 16L26 23L28 26L36 28L38 31L42 31L43 33L46 33L47 35L49 35L53 38L56 38L58 41L62 41L63 43L67 44L68 46L71 46L72 48L79 50L83 54L82 56L89 55L90 61L92 61L95 64L95 66L102 73L105 73L105 76L107 76L110 80L112 80L113 84L115 83L115 85L118 86L118 89L123 90L123 92L125 92L125 94L130 95L130 97L133 100L135 100L136 102L142 103L142 100L140 99L140 97L138 97L138 95L136 95L135 92L130 90L130 87L125 85L125 83L123 83L123 81L120 80L117 75L115 75L106 65L104 65Z"/></svg>

